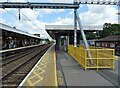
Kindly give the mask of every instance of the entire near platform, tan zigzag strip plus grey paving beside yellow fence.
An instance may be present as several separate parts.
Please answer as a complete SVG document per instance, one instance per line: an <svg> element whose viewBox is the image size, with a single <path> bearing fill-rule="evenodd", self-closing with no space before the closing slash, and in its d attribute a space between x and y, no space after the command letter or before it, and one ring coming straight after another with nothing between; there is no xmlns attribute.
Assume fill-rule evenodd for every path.
<svg viewBox="0 0 120 88"><path fill-rule="evenodd" d="M116 69L117 67L114 71ZM67 52L55 52L55 46L52 45L21 82L19 88L22 86L103 86L118 88L116 87L118 80L113 80L116 82L114 84L104 76L99 74L97 70L84 70ZM110 76L112 77L112 75Z"/></svg>

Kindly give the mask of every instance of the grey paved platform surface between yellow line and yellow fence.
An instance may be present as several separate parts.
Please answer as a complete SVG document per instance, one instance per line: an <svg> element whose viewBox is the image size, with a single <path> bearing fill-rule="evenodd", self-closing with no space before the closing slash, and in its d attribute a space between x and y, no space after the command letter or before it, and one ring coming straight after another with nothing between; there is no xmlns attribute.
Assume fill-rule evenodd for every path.
<svg viewBox="0 0 120 88"><path fill-rule="evenodd" d="M113 86L94 70L83 70L67 52L58 52L67 86Z"/></svg>

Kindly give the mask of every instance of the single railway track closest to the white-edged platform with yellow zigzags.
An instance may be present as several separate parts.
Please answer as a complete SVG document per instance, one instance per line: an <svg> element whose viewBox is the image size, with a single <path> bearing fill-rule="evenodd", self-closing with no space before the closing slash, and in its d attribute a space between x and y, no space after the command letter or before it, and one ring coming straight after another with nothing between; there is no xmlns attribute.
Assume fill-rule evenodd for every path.
<svg viewBox="0 0 120 88"><path fill-rule="evenodd" d="M7 86L12 86L12 88L17 87L19 85L19 83L24 79L24 77L29 73L31 68L40 59L40 57L45 53L45 51L48 49L48 47L49 46L42 48L41 52L37 53L34 57L32 57L32 58L36 58L36 61L34 61L31 58L31 59L28 59L28 60L25 61L25 63L27 63L27 62L29 62L29 63L27 63L27 64L25 64L25 63L19 64L19 66L17 66L16 70L15 70L16 67L14 67L14 69L12 71L12 74L8 75L3 80L3 87L7 87ZM34 63L34 65L33 65L33 63ZM26 67L29 67L29 69L26 69Z"/></svg>

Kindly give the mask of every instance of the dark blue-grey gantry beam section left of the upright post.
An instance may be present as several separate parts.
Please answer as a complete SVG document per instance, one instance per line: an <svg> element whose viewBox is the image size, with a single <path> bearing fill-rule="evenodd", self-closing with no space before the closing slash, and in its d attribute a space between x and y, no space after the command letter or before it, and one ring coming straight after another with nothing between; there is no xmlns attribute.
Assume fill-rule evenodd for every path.
<svg viewBox="0 0 120 88"><path fill-rule="evenodd" d="M34 3L34 2L2 2L0 8L49 8L49 9L74 9L79 8L79 4L70 3Z"/></svg>

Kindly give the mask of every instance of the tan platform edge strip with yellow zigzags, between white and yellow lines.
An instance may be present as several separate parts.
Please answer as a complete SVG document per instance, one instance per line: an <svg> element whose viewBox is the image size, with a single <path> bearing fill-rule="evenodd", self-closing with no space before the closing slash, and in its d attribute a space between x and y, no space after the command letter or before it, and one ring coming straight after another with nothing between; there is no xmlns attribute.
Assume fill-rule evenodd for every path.
<svg viewBox="0 0 120 88"><path fill-rule="evenodd" d="M38 61L19 87L21 86L57 86L54 45Z"/></svg>

